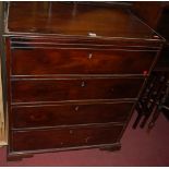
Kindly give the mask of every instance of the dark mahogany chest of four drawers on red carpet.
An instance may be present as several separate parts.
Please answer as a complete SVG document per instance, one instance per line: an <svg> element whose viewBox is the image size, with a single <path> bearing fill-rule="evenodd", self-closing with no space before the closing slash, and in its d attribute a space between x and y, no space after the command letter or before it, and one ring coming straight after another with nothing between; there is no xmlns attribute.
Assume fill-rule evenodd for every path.
<svg viewBox="0 0 169 169"><path fill-rule="evenodd" d="M124 7L11 2L7 9L9 159L119 149L164 39Z"/></svg>

